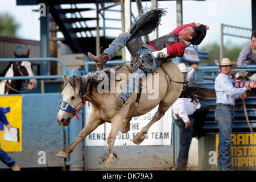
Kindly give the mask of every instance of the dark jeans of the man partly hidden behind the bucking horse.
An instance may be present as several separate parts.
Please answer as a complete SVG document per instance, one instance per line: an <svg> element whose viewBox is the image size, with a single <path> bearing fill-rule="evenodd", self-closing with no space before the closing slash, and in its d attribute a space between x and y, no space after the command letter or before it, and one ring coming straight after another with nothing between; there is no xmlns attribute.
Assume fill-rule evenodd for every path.
<svg viewBox="0 0 256 182"><path fill-rule="evenodd" d="M188 152L192 140L192 130L193 130L193 115L189 115L190 126L185 129L185 123L181 118L174 119L175 124L179 127L180 131L180 149L179 156L177 158L177 167L176 169L184 169L187 167L188 163Z"/></svg>

